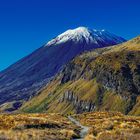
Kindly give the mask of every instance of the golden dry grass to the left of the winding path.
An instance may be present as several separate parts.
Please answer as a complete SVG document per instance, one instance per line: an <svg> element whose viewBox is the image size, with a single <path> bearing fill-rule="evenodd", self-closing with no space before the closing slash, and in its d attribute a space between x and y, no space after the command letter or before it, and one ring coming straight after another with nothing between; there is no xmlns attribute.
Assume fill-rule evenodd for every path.
<svg viewBox="0 0 140 140"><path fill-rule="evenodd" d="M0 115L0 139L69 140L78 137L78 129L59 114Z"/></svg>

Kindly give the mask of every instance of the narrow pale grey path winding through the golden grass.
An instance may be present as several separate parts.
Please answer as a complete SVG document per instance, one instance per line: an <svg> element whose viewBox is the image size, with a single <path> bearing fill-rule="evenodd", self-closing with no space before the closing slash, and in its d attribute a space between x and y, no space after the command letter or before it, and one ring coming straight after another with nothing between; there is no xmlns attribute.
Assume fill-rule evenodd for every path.
<svg viewBox="0 0 140 140"><path fill-rule="evenodd" d="M87 135L88 131L89 131L89 127L83 126L79 121L77 121L76 119L74 119L71 116L68 116L69 120L71 122L73 122L75 125L81 127L81 131L80 131L80 138L76 138L73 140L84 140L85 136Z"/></svg>

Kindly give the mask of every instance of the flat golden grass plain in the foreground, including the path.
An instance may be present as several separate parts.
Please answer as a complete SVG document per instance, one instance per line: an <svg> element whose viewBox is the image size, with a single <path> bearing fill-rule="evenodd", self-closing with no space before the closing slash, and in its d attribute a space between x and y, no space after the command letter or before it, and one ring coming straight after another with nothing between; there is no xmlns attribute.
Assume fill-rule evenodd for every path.
<svg viewBox="0 0 140 140"><path fill-rule="evenodd" d="M140 117L119 112L1 114L4 140L139 140Z"/></svg>

